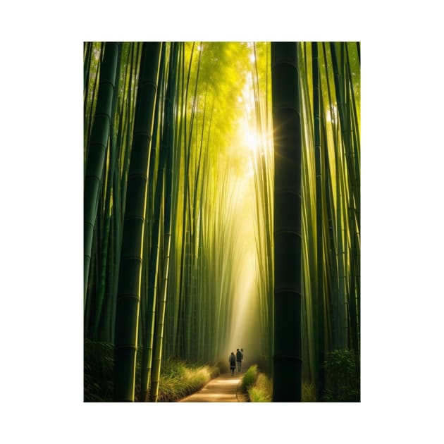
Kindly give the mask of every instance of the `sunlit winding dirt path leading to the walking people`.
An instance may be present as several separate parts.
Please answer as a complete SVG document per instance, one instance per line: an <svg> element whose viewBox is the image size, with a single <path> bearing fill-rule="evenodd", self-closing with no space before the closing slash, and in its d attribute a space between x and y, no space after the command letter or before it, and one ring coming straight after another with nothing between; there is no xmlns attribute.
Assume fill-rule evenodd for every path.
<svg viewBox="0 0 444 444"><path fill-rule="evenodd" d="M248 398L240 388L245 369L247 366L241 372L236 369L234 376L223 373L209 381L198 392L184 397L179 402L247 402Z"/></svg>

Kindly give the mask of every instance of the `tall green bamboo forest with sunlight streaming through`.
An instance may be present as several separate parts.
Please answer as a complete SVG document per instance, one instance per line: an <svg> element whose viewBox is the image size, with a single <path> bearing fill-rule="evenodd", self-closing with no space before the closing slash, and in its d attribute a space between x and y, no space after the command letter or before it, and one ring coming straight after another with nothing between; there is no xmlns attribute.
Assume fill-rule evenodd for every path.
<svg viewBox="0 0 444 444"><path fill-rule="evenodd" d="M85 402L360 402L360 63L84 42Z"/></svg>

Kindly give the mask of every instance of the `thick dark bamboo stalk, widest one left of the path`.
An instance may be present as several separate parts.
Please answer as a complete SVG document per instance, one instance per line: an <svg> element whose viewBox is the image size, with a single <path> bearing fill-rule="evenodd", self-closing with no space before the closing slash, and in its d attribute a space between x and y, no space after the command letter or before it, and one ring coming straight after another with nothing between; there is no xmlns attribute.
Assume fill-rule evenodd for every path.
<svg viewBox="0 0 444 444"><path fill-rule="evenodd" d="M139 321L142 245L147 204L147 175L160 50L160 43L144 43L142 46L118 280L114 364L114 399L116 401L131 402L134 400L135 394L135 359Z"/></svg>

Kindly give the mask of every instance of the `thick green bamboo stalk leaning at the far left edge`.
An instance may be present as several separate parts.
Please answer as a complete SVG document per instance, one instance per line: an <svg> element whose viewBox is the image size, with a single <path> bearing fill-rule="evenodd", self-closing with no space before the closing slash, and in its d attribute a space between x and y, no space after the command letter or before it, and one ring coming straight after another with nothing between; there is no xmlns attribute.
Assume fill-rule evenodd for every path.
<svg viewBox="0 0 444 444"><path fill-rule="evenodd" d="M85 171L85 195L84 195L84 306L86 304L88 276L90 273L92 237L94 224L99 206L99 193L102 185L106 147L109 140L109 128L111 125L111 109L113 94L116 84L116 73L118 72L118 44L108 42L105 46L103 66L99 82L99 93L94 114L94 123L90 143L88 145L88 156Z"/></svg>

